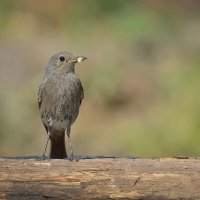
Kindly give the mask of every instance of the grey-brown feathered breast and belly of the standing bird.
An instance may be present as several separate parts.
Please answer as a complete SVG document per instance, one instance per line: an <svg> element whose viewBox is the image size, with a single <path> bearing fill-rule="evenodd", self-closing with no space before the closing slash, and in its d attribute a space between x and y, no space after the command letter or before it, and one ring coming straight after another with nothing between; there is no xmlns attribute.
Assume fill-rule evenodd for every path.
<svg viewBox="0 0 200 200"><path fill-rule="evenodd" d="M46 88L47 89L47 88ZM76 76L54 79L44 92L42 117L48 127L66 129L78 116L81 100L81 83Z"/></svg>

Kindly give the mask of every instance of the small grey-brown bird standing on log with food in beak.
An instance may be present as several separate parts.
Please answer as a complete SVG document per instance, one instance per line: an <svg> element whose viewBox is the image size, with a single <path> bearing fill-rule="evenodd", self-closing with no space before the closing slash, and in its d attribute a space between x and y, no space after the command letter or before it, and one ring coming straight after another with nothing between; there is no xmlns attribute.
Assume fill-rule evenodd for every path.
<svg viewBox="0 0 200 200"><path fill-rule="evenodd" d="M47 132L47 142L51 141L51 159L68 158L65 146L65 135L68 137L70 159L74 158L70 138L71 126L75 122L84 90L79 77L75 73L76 63L87 59L74 56L69 51L53 55L46 66L44 78L38 90L38 104L42 123Z"/></svg>

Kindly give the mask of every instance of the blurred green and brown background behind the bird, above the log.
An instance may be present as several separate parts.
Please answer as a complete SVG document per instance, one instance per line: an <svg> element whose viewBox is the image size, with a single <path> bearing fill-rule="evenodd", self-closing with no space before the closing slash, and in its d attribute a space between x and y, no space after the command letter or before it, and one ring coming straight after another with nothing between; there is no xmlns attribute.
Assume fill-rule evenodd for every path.
<svg viewBox="0 0 200 200"><path fill-rule="evenodd" d="M0 156L42 154L38 86L63 50L88 57L76 155L200 155L200 1L0 0Z"/></svg>

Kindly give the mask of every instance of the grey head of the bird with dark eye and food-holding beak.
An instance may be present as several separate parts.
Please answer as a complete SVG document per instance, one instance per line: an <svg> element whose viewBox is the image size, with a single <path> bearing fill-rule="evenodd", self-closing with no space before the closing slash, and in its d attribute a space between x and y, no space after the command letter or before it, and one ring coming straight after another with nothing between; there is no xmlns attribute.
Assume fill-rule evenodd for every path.
<svg viewBox="0 0 200 200"><path fill-rule="evenodd" d="M69 73L74 72L74 66L76 63L82 62L87 59L84 56L74 56L71 52L65 51L53 55L46 67L46 74L59 72Z"/></svg>

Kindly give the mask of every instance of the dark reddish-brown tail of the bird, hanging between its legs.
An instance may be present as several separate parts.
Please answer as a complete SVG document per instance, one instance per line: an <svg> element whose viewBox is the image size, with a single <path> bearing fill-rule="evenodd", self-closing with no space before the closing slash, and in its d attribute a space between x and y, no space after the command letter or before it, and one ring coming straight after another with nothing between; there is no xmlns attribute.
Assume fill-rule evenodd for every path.
<svg viewBox="0 0 200 200"><path fill-rule="evenodd" d="M51 148L50 158L62 159L67 158L65 148L65 132L53 131L50 136Z"/></svg>

